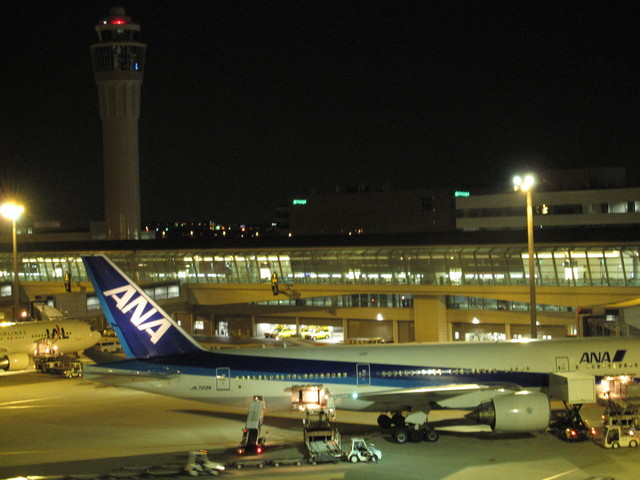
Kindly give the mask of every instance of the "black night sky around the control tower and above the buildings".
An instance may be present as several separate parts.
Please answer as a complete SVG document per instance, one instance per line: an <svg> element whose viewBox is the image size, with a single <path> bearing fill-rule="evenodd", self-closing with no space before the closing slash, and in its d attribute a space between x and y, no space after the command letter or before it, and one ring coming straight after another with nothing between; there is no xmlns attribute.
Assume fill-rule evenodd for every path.
<svg viewBox="0 0 640 480"><path fill-rule="evenodd" d="M640 2L3 0L0 194L103 220L89 45L148 45L143 220L257 223L312 190L507 188L640 158Z"/></svg>

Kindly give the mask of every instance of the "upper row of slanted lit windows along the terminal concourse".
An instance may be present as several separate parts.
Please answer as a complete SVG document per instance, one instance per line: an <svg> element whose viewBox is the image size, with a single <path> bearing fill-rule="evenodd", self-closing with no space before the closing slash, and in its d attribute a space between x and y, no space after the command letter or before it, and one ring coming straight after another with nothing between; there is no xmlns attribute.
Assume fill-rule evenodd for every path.
<svg viewBox="0 0 640 480"><path fill-rule="evenodd" d="M324 250L110 252L141 283L269 283L355 285L528 285L523 247L333 248ZM541 286L639 286L638 246L540 247L535 279ZM22 255L20 281L87 281L76 255ZM12 255L0 254L0 282L10 283Z"/></svg>

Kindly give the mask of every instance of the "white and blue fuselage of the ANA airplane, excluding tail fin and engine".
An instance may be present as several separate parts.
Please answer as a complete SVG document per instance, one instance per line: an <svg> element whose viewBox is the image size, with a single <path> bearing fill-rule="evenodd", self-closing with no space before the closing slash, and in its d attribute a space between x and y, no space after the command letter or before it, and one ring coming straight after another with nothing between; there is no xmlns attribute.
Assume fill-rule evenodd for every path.
<svg viewBox="0 0 640 480"><path fill-rule="evenodd" d="M85 375L218 404L246 405L252 396L261 395L271 409L291 408L292 386L323 385L336 397L338 408L381 410L385 396L389 405L397 404L394 392L410 396L424 391L437 399L442 389L449 392L445 406L463 408L496 395L485 386L540 390L547 386L550 372L635 375L639 366L640 339L594 338L205 351L179 359L90 367ZM109 380L105 373L115 375ZM452 397L452 390L459 394Z"/></svg>

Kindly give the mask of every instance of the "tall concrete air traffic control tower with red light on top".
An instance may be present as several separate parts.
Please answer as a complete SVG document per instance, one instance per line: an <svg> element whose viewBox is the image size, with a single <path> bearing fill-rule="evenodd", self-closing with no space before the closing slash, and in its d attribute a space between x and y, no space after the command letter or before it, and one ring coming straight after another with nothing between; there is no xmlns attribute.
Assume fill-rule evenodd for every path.
<svg viewBox="0 0 640 480"><path fill-rule="evenodd" d="M102 119L106 234L108 240L137 240L142 229L138 119L147 46L137 41L140 25L120 7L111 9L96 32L91 63Z"/></svg>

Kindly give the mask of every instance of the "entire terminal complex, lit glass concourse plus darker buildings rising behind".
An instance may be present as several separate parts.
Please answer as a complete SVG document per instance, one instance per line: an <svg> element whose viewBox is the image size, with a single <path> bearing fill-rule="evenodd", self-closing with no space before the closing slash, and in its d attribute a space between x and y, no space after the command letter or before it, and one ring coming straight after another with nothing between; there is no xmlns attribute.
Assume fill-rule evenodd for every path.
<svg viewBox="0 0 640 480"><path fill-rule="evenodd" d="M640 332L640 189L621 186L615 170L575 174L574 190L534 194L541 338ZM339 231L306 235L66 242L19 235L21 306L31 318L57 311L103 326L80 256L106 253L193 334L264 337L285 325L298 336L325 327L333 341L347 342L530 336L524 195L423 190L378 192L373 201L369 193L296 205L310 212L306 221L304 209L289 217L300 228L329 228L310 221L327 206L357 206L341 210ZM353 203L353 195L361 198ZM352 222L363 206L367 218ZM389 228L380 210L406 221ZM9 235L3 240L7 319L13 256Z"/></svg>

